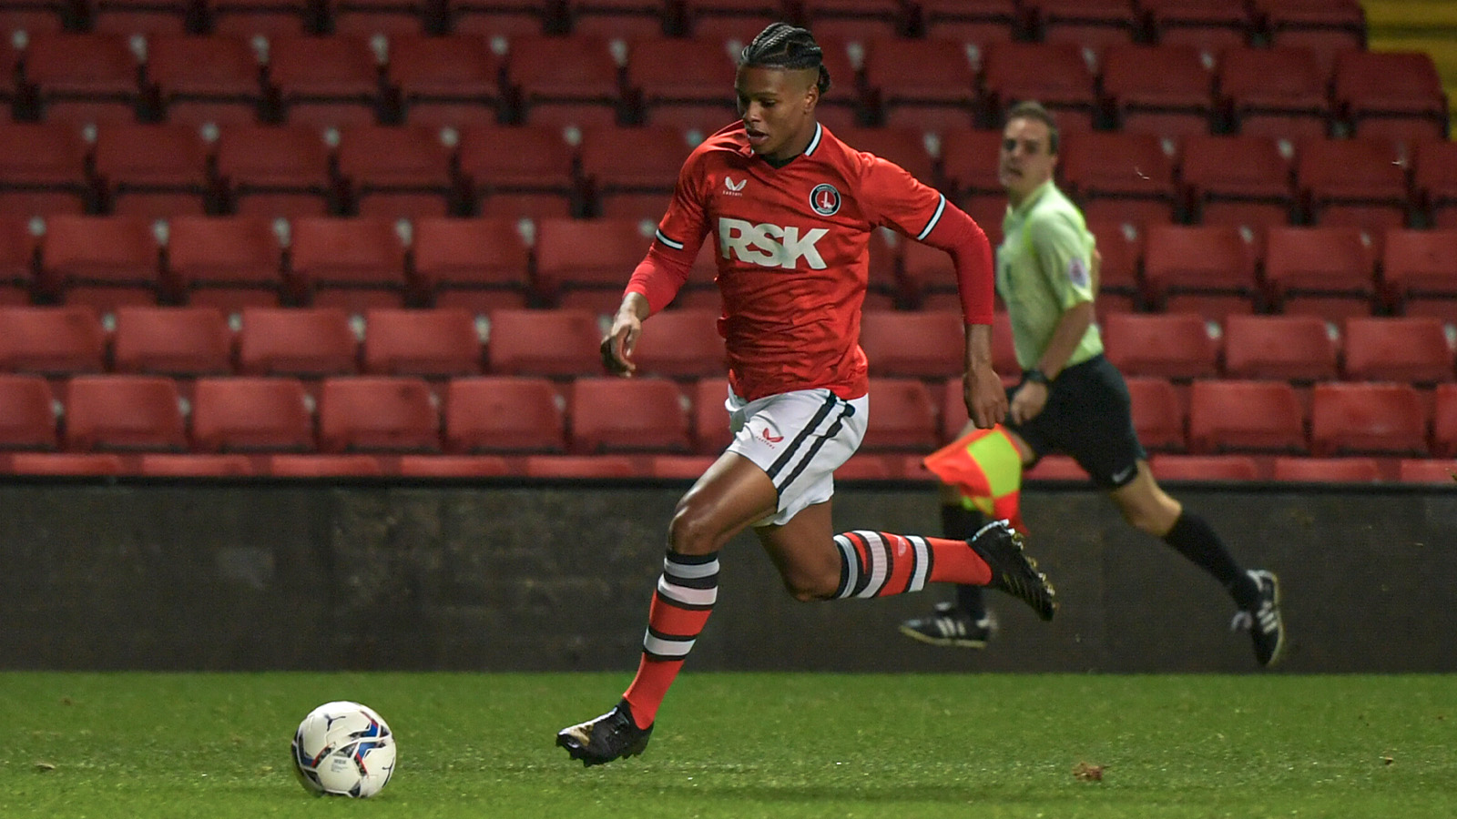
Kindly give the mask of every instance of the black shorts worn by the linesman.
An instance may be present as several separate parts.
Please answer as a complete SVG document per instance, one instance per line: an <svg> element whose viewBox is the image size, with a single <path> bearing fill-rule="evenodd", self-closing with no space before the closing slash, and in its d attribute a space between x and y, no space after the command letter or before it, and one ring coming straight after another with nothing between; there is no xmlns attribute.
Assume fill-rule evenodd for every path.
<svg viewBox="0 0 1457 819"><path fill-rule="evenodd" d="M1058 373L1042 412L1026 424L1008 420L1007 427L1021 436L1039 459L1050 453L1071 455L1093 482L1106 490L1132 482L1138 462L1148 458L1134 431L1128 383L1104 356Z"/></svg>

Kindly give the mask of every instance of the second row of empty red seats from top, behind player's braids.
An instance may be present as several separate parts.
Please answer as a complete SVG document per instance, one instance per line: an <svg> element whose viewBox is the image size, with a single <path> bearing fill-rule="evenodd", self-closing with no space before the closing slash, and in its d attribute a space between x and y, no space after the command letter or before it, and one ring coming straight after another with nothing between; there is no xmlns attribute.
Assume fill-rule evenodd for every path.
<svg viewBox="0 0 1457 819"><path fill-rule="evenodd" d="M326 38L38 34L16 54L16 114L90 119L526 121L717 127L733 117L733 60L752 36ZM833 85L822 117L994 124L1017 99L1067 124L1155 133L1445 136L1423 52L1305 48L822 38Z"/></svg>

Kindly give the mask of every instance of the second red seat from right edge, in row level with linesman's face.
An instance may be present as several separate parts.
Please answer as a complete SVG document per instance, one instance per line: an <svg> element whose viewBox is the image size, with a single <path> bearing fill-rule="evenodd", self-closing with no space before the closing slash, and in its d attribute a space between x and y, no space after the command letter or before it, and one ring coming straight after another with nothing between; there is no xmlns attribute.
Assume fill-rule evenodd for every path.
<svg viewBox="0 0 1457 819"><path fill-rule="evenodd" d="M1390 140L1305 140L1295 184L1317 224L1380 229L1406 219L1406 157Z"/></svg>

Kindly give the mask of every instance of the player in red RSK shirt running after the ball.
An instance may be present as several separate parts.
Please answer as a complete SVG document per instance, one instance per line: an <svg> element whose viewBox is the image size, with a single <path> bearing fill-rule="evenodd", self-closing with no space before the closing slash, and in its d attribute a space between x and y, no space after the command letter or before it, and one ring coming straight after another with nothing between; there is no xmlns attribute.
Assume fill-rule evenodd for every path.
<svg viewBox="0 0 1457 819"><path fill-rule="evenodd" d="M857 338L874 227L950 254L966 315L963 398L972 423L995 424L1007 396L991 366L986 235L899 166L825 130L814 108L828 87L806 29L772 23L742 51L734 79L742 121L683 163L602 342L609 369L631 375L644 321L673 299L712 235L734 439L678 503L632 683L610 711L557 734L586 765L647 746L659 704L718 596L718 549L750 526L800 600L969 583L1002 589L1052 618L1052 586L1004 522L956 541L833 533L833 471L860 446L870 414Z"/></svg>

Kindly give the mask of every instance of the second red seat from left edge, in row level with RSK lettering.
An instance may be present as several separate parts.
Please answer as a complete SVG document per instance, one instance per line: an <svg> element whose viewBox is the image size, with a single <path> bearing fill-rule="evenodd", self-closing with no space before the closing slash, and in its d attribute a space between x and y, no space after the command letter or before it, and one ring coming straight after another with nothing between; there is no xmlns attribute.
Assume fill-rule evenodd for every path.
<svg viewBox="0 0 1457 819"><path fill-rule="evenodd" d="M160 248L152 220L136 216L52 216L45 224L39 287L68 305L114 310L156 303Z"/></svg>

